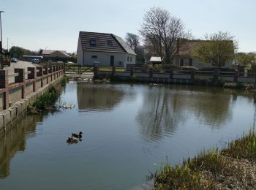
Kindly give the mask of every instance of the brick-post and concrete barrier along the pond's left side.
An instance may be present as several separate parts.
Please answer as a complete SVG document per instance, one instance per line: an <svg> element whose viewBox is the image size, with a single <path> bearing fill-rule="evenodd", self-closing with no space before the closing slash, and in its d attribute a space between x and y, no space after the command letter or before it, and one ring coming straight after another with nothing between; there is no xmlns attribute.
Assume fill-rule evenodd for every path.
<svg viewBox="0 0 256 190"><path fill-rule="evenodd" d="M64 73L64 65L0 70L0 111L51 83Z"/></svg>

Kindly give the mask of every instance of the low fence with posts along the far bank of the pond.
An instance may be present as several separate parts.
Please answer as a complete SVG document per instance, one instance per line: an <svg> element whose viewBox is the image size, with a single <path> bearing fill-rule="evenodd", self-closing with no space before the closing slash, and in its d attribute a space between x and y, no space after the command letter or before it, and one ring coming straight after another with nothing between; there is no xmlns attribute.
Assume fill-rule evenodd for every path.
<svg viewBox="0 0 256 190"><path fill-rule="evenodd" d="M99 64L94 64L94 76L108 77L116 76L121 80L129 80L131 77L137 77L138 81L149 81L154 83L194 83L195 80L222 80L223 82L241 82L256 83L256 73L244 72L221 72L219 69L214 71L197 70L178 70L178 69L143 69L130 67L129 70L119 72L115 66L102 71Z"/></svg>

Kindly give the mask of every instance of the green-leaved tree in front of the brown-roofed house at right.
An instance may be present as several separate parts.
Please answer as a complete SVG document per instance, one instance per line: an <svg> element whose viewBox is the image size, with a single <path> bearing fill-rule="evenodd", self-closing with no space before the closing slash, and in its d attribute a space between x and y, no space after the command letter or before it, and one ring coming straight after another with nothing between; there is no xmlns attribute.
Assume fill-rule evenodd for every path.
<svg viewBox="0 0 256 190"><path fill-rule="evenodd" d="M205 39L194 47L192 56L221 69L227 61L234 60L236 50L238 50L238 42L235 37L227 31L219 31L206 34Z"/></svg>

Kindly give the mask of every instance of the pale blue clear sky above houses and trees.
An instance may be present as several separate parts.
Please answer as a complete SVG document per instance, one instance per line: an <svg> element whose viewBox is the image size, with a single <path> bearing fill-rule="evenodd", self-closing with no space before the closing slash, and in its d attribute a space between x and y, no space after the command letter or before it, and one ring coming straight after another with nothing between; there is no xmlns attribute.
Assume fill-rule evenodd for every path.
<svg viewBox="0 0 256 190"><path fill-rule="evenodd" d="M139 34L151 7L167 9L196 38L229 31L239 51L256 52L256 0L0 0L3 48L8 41L9 48L74 53L79 31Z"/></svg>

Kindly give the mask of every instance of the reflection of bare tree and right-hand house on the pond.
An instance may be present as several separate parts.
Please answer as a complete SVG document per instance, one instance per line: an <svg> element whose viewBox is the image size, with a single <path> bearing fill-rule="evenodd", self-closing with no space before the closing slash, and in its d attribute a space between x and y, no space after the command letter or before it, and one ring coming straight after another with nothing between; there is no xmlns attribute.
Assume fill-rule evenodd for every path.
<svg viewBox="0 0 256 190"><path fill-rule="evenodd" d="M173 134L179 124L200 123L211 129L221 129L232 120L232 107L238 96L253 97L253 94L194 86L149 87L143 93L143 106L138 111L137 121L143 137L150 140ZM195 122L187 123L191 120Z"/></svg>

